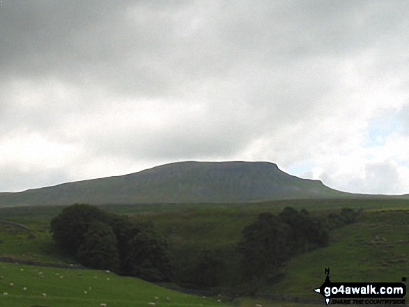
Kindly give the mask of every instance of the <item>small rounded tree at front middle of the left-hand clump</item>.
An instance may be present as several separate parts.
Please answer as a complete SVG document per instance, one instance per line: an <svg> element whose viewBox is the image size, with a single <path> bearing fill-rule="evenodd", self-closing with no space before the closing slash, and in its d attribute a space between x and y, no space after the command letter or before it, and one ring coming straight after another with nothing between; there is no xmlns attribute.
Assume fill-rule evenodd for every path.
<svg viewBox="0 0 409 307"><path fill-rule="evenodd" d="M119 254L112 227L101 221L91 223L77 251L77 260L93 269L118 269Z"/></svg>

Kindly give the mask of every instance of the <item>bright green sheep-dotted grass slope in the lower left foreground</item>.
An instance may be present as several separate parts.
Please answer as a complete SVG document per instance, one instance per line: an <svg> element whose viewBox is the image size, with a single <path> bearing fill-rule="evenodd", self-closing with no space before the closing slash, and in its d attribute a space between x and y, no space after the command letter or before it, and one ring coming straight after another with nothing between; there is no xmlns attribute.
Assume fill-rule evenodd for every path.
<svg viewBox="0 0 409 307"><path fill-rule="evenodd" d="M220 305L216 299L175 292L138 278L116 276L105 271L0 262L0 274L2 307L89 307L102 303L109 307L146 307L152 301L157 307ZM5 292L8 294L3 295Z"/></svg>

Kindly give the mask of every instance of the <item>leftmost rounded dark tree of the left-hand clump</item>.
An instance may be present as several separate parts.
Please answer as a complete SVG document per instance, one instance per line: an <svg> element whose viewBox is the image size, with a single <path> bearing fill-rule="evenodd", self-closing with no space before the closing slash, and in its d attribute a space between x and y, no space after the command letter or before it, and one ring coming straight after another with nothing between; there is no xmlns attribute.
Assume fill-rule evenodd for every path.
<svg viewBox="0 0 409 307"><path fill-rule="evenodd" d="M71 205L52 219L52 237L65 253L75 255L91 223L103 221L106 217L107 214L97 207L85 204Z"/></svg>

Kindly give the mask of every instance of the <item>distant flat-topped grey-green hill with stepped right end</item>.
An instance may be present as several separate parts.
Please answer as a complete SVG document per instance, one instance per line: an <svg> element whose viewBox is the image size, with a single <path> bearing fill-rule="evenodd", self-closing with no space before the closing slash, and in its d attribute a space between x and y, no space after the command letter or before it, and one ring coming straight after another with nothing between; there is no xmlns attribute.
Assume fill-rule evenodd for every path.
<svg viewBox="0 0 409 307"><path fill-rule="evenodd" d="M269 162L177 162L129 175L0 193L0 206L210 203L351 196Z"/></svg>

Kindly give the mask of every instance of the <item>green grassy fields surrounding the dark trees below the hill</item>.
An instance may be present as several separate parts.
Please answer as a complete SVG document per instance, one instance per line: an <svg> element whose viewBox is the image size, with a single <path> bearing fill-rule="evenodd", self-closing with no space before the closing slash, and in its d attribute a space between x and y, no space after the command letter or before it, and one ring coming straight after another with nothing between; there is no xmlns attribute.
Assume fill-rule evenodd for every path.
<svg viewBox="0 0 409 307"><path fill-rule="evenodd" d="M179 248L228 251L240 239L242 229L252 223L260 212L277 213L286 206L307 208L311 214L320 216L341 207L361 208L363 212L356 223L332 231L330 246L293 258L286 265L285 276L277 284L266 286L263 291L315 299L318 294L312 289L323 283L325 267L330 267L332 281L401 281L402 277L409 277L408 200L107 205L102 209L129 214L139 222L153 223L169 235L171 244L176 244ZM61 210L61 207L1 208L0 219L24 223L30 230L0 224L0 256L72 263L72 259L59 253L49 234L49 221ZM0 294L8 292L8 295L0 295L0 306L99 306L101 303L107 303L108 306L148 306L148 301L153 297L176 295L162 292L155 294L155 291L168 293L170 290L155 288L157 286L153 285L151 289L148 287L151 284L137 278L114 274L106 276L105 272L100 271L82 271L82 276L79 276L75 270L26 267L6 262L0 262L0 270L0 275L3 276L0 279ZM40 271L43 271L45 277L38 276ZM97 278L94 278L95 274ZM110 281L106 278L110 278ZM88 285L91 281L94 284ZM114 283L109 283L113 281ZM11 287L10 283L15 285ZM24 287L27 290L22 292ZM95 291L88 291L87 287ZM121 290L122 288L125 290ZM144 293L135 292L136 289L144 289ZM41 297L43 292L47 293L47 297ZM171 302L161 301L157 306L220 304L215 299L202 301L202 298L194 297L184 300L185 298L180 297ZM240 298L229 301L229 304L243 307L254 304L263 304L263 307L307 306L252 298Z"/></svg>

